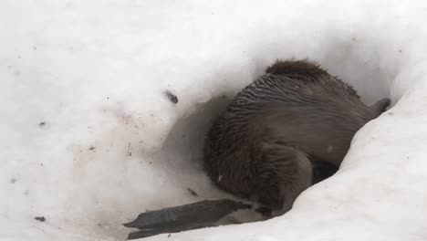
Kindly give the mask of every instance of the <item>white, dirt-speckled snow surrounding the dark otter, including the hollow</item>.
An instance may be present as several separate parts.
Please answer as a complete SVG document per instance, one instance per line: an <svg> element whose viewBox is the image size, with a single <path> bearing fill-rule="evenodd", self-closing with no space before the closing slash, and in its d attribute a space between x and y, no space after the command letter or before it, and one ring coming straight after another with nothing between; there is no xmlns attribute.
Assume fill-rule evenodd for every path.
<svg viewBox="0 0 427 241"><path fill-rule="evenodd" d="M147 240L427 240L426 23L425 1L0 1L0 240L123 240L146 209L228 196L204 132L276 58L392 108L286 215Z"/></svg>

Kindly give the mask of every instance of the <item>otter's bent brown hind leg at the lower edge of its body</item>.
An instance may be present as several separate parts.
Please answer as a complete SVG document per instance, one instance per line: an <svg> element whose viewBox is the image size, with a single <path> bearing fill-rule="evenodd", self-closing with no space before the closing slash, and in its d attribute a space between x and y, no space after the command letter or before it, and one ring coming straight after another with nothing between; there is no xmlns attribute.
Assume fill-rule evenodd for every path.
<svg viewBox="0 0 427 241"><path fill-rule="evenodd" d="M313 167L307 154L297 149L267 142L261 149L255 171L256 195L261 204L286 213L311 185Z"/></svg>

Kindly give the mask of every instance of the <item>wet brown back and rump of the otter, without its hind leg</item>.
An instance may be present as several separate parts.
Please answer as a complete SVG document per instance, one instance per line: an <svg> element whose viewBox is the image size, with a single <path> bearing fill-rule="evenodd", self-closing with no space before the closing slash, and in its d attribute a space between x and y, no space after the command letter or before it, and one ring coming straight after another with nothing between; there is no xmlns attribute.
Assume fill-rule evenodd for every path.
<svg viewBox="0 0 427 241"><path fill-rule="evenodd" d="M205 170L234 194L249 196L257 184L264 161L255 152L263 141L339 164L354 133L373 118L354 89L324 70L275 71L237 94L208 132Z"/></svg>

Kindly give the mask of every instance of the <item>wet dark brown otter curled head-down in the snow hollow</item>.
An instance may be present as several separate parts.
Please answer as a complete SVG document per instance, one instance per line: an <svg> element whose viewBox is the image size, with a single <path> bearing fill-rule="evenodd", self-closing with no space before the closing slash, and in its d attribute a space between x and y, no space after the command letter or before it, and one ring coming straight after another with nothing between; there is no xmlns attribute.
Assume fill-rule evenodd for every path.
<svg viewBox="0 0 427 241"><path fill-rule="evenodd" d="M204 169L225 191L285 213L338 170L356 131L389 104L366 106L315 62L277 60L213 122Z"/></svg>

